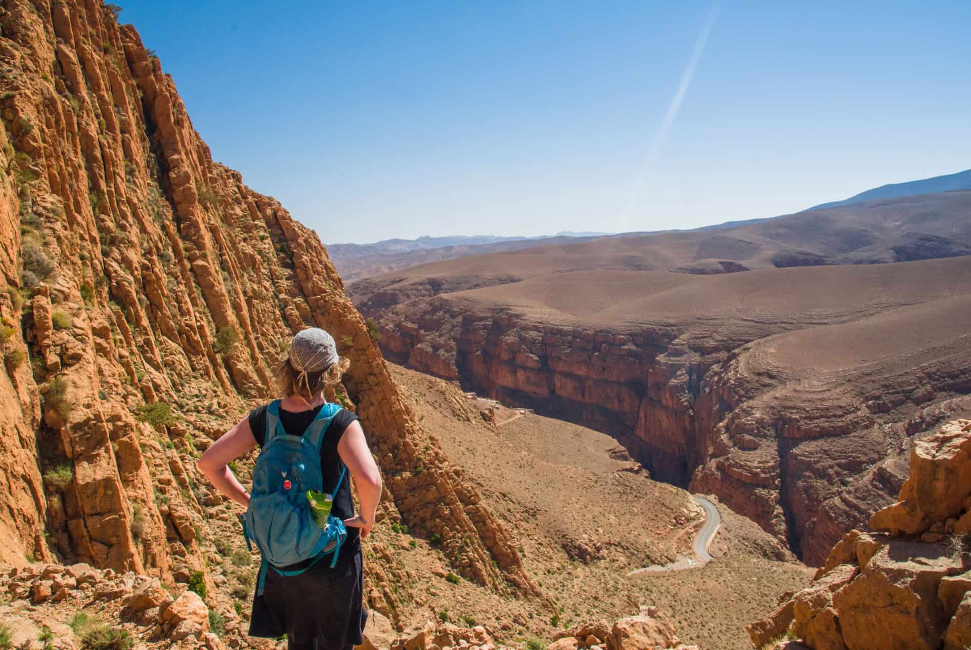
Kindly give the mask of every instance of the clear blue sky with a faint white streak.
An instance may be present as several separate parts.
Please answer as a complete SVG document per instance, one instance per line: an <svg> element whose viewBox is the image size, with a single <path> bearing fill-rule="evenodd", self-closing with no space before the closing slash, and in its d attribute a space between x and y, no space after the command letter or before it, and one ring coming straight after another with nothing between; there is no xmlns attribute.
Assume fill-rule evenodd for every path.
<svg viewBox="0 0 971 650"><path fill-rule="evenodd" d="M118 4L214 158L324 243L689 228L971 167L963 1Z"/></svg>

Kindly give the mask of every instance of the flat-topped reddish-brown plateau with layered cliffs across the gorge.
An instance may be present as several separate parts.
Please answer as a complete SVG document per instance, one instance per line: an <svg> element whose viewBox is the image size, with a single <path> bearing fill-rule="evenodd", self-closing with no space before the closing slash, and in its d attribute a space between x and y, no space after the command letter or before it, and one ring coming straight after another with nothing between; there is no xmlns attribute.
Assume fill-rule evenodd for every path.
<svg viewBox="0 0 971 650"><path fill-rule="evenodd" d="M971 408L969 297L971 258L955 257L537 272L361 304L389 359L610 432L653 478L720 496L820 564L892 501L915 434Z"/></svg>

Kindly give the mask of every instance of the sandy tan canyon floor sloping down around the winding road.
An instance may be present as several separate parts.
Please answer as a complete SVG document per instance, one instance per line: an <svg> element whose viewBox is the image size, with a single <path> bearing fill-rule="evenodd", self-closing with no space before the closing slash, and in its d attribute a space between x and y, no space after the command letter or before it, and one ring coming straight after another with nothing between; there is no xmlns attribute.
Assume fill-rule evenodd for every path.
<svg viewBox="0 0 971 650"><path fill-rule="evenodd" d="M530 610L471 585L453 589L425 569L428 599L420 606L429 618L448 607L450 616L471 616L486 629L549 640L554 614L559 627L570 627L654 605L674 620L686 643L749 648L746 623L812 577L778 541L723 506L714 562L626 577L643 565L693 557L691 540L704 516L688 493L651 480L608 435L529 412L495 427L480 416L477 400L454 384L389 367L421 427L439 439L514 535L527 573L556 609ZM501 408L497 420L515 411ZM427 558L409 560L422 574Z"/></svg>

